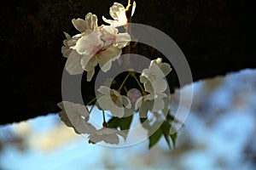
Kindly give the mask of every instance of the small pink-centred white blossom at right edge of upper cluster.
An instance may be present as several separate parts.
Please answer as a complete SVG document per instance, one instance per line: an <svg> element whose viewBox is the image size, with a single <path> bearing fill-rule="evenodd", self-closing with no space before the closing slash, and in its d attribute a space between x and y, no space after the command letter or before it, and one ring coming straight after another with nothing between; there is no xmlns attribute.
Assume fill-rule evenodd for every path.
<svg viewBox="0 0 256 170"><path fill-rule="evenodd" d="M119 33L113 26L102 26L101 33L105 45L113 44L113 47L125 48L131 42L131 36L127 32Z"/></svg>

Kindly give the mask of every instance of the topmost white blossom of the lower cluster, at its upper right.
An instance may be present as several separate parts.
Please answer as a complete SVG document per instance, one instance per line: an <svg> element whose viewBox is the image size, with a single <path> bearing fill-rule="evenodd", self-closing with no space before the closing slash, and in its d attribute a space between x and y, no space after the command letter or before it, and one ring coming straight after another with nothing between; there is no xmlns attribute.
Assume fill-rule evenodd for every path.
<svg viewBox="0 0 256 170"><path fill-rule="evenodd" d="M143 83L144 88L151 94L160 94L167 88L165 77L172 71L172 68L167 63L162 63L162 59L154 59L151 61L148 69L144 69L140 82Z"/></svg>

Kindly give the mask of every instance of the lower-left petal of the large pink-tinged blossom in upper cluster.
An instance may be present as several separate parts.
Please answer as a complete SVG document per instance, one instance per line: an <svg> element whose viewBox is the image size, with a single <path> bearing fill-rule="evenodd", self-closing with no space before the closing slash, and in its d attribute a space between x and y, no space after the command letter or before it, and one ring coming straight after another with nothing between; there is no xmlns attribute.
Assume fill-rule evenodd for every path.
<svg viewBox="0 0 256 170"><path fill-rule="evenodd" d="M81 58L82 56L75 50L72 50L71 54L69 54L65 67L70 75L81 74L84 71L80 64Z"/></svg>

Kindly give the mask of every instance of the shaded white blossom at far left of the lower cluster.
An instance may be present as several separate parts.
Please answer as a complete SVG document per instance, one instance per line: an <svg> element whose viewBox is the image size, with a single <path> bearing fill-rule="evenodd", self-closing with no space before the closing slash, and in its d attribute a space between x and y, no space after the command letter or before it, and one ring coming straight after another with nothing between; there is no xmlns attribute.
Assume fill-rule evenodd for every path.
<svg viewBox="0 0 256 170"><path fill-rule="evenodd" d="M62 101L57 104L61 108L59 116L67 127L73 127L74 131L80 133L95 133L96 128L87 122L89 111L85 105L73 104L69 101Z"/></svg>

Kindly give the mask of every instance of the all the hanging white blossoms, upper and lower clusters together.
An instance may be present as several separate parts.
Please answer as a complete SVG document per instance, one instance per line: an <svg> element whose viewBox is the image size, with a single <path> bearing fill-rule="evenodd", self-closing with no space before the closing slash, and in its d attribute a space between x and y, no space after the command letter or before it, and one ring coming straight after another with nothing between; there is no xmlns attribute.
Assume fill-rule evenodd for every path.
<svg viewBox="0 0 256 170"><path fill-rule="evenodd" d="M95 73L96 65L101 70L107 72L111 69L112 62L119 59L122 54L122 48L125 48L131 42L131 35L128 32L119 32L119 26L127 24L126 11L131 9L131 16L134 14L136 3L129 4L125 8L120 3L113 3L109 14L113 20L108 20L102 16L102 20L108 23L108 26L98 26L97 16L95 14L86 14L85 19L73 19L73 26L80 32L71 37L67 32L61 48L64 57L67 58L66 70L70 75L87 72L87 82L90 82ZM166 110L165 99L169 96L165 94L167 86L166 76L172 71L169 64L163 63L162 59L154 59L148 68L144 69L139 79L135 72L130 71L119 89L101 86L97 89L99 95L96 96L94 105L102 111L102 127L96 128L90 122L90 111L86 105L74 104L70 101L62 101L58 104L61 108L59 116L61 121L65 122L67 127L73 127L79 134L87 134L89 142L92 144L105 142L108 144L119 144L119 137L126 139L131 125L133 114L138 112L140 118L148 118L148 113L158 114ZM134 78L143 96L128 98L120 93L124 88L128 77ZM126 90L127 91L127 90ZM91 103L90 103L91 104ZM132 108L132 104L134 107ZM89 105L89 104L87 104ZM93 105L93 106L94 106ZM107 122L104 111L111 114L111 119ZM128 114L129 113L129 114ZM125 119L124 119L125 118ZM125 125L128 127L124 129ZM122 122L123 121L123 122ZM169 125L168 125L169 126ZM170 130L170 126L167 127ZM166 137L164 132L164 135ZM168 142L168 141L167 141ZM168 143L169 144L169 143Z"/></svg>

